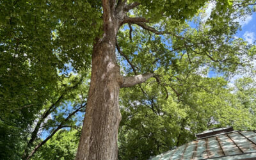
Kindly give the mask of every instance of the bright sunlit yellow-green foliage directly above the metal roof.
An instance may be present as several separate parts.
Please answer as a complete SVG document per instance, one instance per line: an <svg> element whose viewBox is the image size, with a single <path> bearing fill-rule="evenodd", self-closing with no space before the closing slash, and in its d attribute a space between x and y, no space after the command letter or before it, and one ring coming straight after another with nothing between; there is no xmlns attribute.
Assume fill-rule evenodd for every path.
<svg viewBox="0 0 256 160"><path fill-rule="evenodd" d="M195 78L192 75L189 74L190 81L182 83L186 91L179 97L175 93L177 86L166 86L169 94L166 99L156 79L141 85L143 89L138 86L122 91L120 159L148 159L188 143L195 139L196 133L212 127L256 129L255 115L239 103L239 92L230 93L227 81L201 76L192 81ZM248 97L252 99L253 94Z"/></svg>

